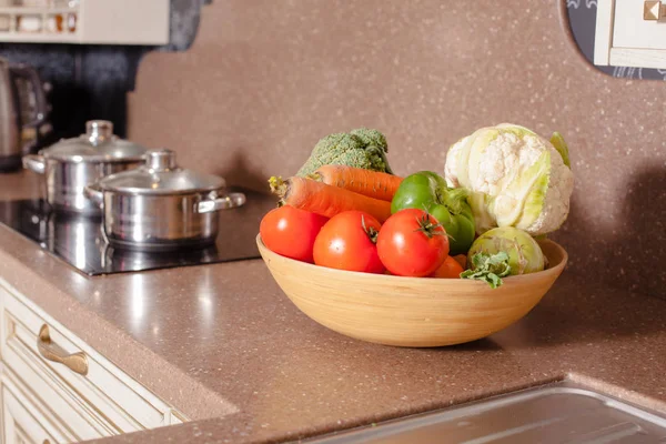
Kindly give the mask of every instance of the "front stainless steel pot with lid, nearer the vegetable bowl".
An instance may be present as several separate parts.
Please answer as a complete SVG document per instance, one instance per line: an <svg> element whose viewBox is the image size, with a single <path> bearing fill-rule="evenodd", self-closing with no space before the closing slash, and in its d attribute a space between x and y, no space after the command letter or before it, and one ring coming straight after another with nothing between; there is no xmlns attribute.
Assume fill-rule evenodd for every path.
<svg viewBox="0 0 666 444"><path fill-rule="evenodd" d="M178 168L170 150L149 151L145 164L85 186L102 208L107 241L138 250L171 250L213 243L219 210L241 206L243 193L226 193L224 179Z"/></svg>

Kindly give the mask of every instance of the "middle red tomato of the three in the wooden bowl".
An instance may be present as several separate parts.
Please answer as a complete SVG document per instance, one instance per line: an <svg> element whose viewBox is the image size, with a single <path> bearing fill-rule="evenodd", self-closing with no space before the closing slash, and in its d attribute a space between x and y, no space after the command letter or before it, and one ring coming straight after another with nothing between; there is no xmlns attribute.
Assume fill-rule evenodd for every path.
<svg viewBox="0 0 666 444"><path fill-rule="evenodd" d="M376 235L382 224L362 211L343 211L331 218L314 242L314 263L331 269L383 273Z"/></svg>

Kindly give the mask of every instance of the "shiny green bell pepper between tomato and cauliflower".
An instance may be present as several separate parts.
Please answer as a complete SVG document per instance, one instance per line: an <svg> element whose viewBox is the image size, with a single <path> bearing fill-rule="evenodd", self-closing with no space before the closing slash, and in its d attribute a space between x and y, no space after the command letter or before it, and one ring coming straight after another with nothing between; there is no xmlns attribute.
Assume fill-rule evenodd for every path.
<svg viewBox="0 0 666 444"><path fill-rule="evenodd" d="M407 175L400 184L391 213L416 208L427 211L448 234L450 254L466 254L474 241L474 215L465 189L452 189L432 171Z"/></svg>

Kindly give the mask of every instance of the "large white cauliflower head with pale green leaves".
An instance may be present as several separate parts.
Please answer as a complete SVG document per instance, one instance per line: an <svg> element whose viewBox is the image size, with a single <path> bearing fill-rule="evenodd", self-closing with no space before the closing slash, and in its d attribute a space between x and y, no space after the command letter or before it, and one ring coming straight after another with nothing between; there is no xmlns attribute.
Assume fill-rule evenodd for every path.
<svg viewBox="0 0 666 444"><path fill-rule="evenodd" d="M568 150L519 125L482 128L451 147L445 178L470 191L476 232L515 226L532 235L557 230L574 190ZM555 144L554 144L555 143Z"/></svg>

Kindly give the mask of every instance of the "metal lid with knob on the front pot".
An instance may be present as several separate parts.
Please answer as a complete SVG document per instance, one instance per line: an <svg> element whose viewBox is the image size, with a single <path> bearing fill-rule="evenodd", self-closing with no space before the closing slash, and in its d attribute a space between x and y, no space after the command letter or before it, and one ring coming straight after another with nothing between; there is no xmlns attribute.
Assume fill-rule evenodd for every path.
<svg viewBox="0 0 666 444"><path fill-rule="evenodd" d="M131 194L179 194L214 191L226 185L218 175L179 168L171 150L148 151L144 159L142 167L100 180L100 189Z"/></svg>

